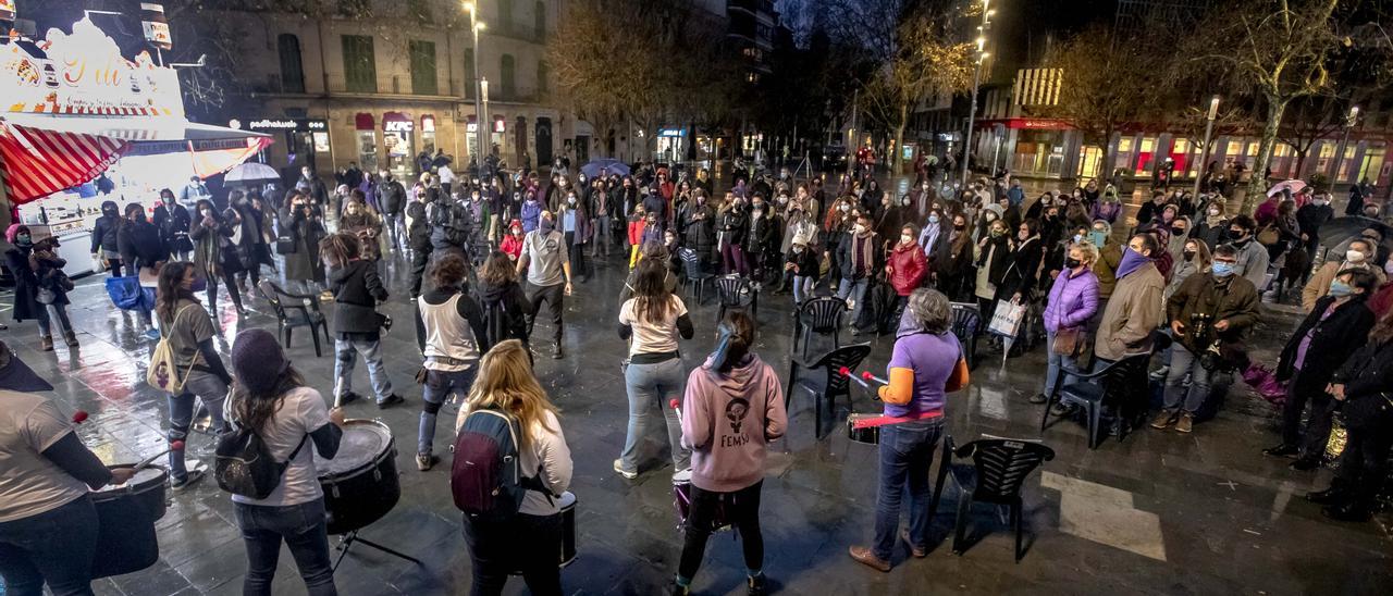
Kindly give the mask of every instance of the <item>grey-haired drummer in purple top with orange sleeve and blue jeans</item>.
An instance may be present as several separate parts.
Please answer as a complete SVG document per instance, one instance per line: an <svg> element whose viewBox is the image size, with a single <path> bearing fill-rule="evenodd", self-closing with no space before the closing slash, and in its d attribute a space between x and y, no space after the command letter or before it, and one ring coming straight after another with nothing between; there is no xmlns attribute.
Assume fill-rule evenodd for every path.
<svg viewBox="0 0 1393 596"><path fill-rule="evenodd" d="M951 308L936 290L919 288L900 319L890 355L890 383L880 387L885 415L880 426L880 490L876 497L875 542L853 546L851 558L890 571L896 539L915 557L928 554L929 466L943 433L944 393L965 383L967 363L957 337L949 330ZM900 529L900 499L910 487L910 529Z"/></svg>

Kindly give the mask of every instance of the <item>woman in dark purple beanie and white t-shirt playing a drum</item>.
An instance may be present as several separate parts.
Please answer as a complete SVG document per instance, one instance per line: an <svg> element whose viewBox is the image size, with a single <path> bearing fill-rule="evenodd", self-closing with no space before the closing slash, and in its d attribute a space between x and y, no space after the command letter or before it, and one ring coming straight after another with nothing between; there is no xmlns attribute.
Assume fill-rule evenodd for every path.
<svg viewBox="0 0 1393 596"><path fill-rule="evenodd" d="M344 415L329 409L325 398L299 376L276 336L248 329L233 341L233 373L237 383L227 400L227 414L251 428L276 461L288 461L280 485L266 499L233 494L237 526L247 544L244 595L270 595L280 543L286 542L311 596L338 593L329 564L325 493L319 471L305 443L326 460L338 453Z"/></svg>

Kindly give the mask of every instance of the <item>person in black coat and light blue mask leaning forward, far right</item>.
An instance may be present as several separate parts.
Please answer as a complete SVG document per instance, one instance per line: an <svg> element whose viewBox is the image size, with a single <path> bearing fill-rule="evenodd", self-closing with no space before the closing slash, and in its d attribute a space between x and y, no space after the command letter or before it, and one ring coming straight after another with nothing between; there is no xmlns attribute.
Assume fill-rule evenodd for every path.
<svg viewBox="0 0 1393 596"><path fill-rule="evenodd" d="M1287 401L1282 405L1282 444L1263 450L1275 457L1298 457L1291 469L1309 471L1321 465L1330 418L1337 401L1325 391L1330 377L1368 340L1373 311L1365 304L1378 279L1365 269L1346 269L1336 274L1330 294L1297 327L1277 359L1277 380L1287 383ZM1301 412L1311 402L1305 437Z"/></svg>

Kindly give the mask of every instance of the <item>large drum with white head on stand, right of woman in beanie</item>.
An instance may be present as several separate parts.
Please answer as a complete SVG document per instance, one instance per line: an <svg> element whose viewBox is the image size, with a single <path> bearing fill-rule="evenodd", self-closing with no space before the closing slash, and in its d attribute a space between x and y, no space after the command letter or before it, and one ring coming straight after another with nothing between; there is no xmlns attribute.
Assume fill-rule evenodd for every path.
<svg viewBox="0 0 1393 596"><path fill-rule="evenodd" d="M397 444L391 429L378 421L344 421L344 434L333 460L315 454L319 486L325 490L329 533L348 533L382 519L401 499Z"/></svg>

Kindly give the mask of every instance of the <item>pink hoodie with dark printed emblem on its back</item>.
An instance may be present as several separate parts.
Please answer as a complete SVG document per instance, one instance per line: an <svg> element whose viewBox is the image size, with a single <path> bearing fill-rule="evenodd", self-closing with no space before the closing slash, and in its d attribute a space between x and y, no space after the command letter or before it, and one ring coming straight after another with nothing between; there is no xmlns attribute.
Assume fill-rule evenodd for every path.
<svg viewBox="0 0 1393 596"><path fill-rule="evenodd" d="M765 446L788 426L775 369L751 354L729 373L708 358L687 376L683 446L692 450L692 485L733 493L765 478Z"/></svg>

